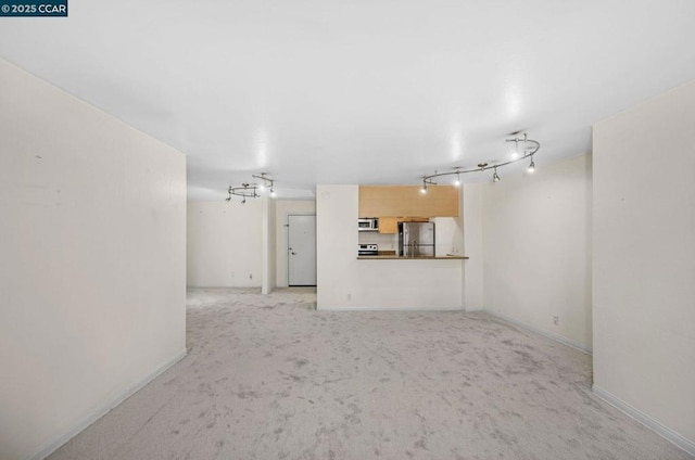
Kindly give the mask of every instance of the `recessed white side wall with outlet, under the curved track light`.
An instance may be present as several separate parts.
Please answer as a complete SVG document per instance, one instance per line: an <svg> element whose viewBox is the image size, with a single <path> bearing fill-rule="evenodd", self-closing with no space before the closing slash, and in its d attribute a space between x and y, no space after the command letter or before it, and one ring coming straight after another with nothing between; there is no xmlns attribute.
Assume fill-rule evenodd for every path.
<svg viewBox="0 0 695 460"><path fill-rule="evenodd" d="M536 164L482 186L484 308L589 349L591 155Z"/></svg>

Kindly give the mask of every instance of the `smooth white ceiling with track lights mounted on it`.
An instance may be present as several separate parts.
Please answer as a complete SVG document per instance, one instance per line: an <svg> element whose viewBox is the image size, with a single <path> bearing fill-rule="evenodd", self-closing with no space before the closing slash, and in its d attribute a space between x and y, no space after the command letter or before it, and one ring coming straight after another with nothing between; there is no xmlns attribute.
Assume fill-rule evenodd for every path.
<svg viewBox="0 0 695 460"><path fill-rule="evenodd" d="M190 199L261 171L287 197L502 161L517 130L540 168L586 152L695 78L694 24L692 0L70 0L0 17L0 55L185 152Z"/></svg>

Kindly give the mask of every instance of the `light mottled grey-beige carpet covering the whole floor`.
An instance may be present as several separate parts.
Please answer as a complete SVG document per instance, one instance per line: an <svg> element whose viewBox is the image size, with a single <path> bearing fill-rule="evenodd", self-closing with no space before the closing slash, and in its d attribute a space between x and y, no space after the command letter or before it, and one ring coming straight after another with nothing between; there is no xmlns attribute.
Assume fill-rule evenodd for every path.
<svg viewBox="0 0 695 460"><path fill-rule="evenodd" d="M591 357L485 314L189 292L189 355L62 459L690 459L591 394Z"/></svg>

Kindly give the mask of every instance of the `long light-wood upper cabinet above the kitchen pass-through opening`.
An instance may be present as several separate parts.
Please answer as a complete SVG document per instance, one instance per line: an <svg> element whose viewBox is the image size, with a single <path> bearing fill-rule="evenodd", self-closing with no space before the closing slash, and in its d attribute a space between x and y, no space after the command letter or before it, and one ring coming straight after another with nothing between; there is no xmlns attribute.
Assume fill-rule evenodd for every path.
<svg viewBox="0 0 695 460"><path fill-rule="evenodd" d="M458 217L458 196L453 186L361 186L359 217Z"/></svg>

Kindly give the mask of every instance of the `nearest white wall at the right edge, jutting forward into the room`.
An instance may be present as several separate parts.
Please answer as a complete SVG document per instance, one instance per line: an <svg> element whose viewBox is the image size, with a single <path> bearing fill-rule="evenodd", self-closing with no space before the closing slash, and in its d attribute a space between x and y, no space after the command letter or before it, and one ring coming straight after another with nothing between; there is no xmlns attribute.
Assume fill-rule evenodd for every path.
<svg viewBox="0 0 695 460"><path fill-rule="evenodd" d="M594 383L695 453L695 81L594 126ZM683 446L683 444L681 444Z"/></svg>

